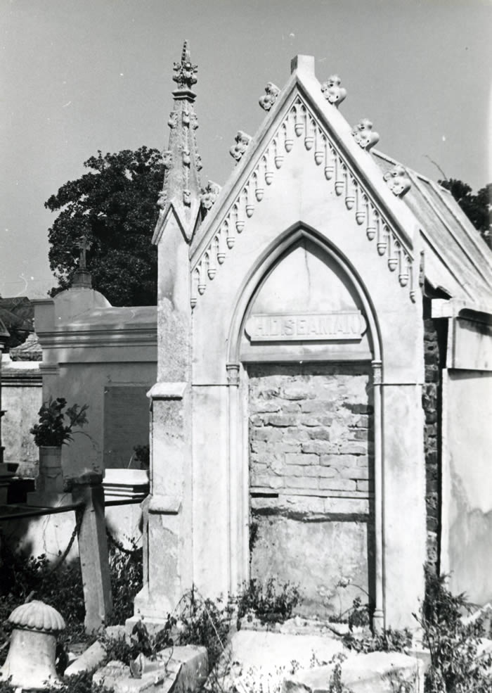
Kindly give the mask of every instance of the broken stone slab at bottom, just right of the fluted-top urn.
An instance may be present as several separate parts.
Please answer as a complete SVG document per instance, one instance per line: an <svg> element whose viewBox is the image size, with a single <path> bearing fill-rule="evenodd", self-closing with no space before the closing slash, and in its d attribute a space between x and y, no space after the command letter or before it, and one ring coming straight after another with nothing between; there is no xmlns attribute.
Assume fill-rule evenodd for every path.
<svg viewBox="0 0 492 693"><path fill-rule="evenodd" d="M111 661L93 675L93 684L112 689L114 693L193 693L205 683L208 673L205 647L185 645L167 647L156 660L141 658L135 668Z"/></svg>

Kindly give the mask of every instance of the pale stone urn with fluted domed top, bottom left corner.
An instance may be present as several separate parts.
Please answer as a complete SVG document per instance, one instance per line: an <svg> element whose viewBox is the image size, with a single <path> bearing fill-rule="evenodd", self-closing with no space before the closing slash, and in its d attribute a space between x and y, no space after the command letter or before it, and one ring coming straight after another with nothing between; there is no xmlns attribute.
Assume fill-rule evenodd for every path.
<svg viewBox="0 0 492 693"><path fill-rule="evenodd" d="M12 677L13 686L37 690L59 683L55 669L56 635L65 629L60 613L53 606L33 600L14 609L8 621L14 629L0 677Z"/></svg>

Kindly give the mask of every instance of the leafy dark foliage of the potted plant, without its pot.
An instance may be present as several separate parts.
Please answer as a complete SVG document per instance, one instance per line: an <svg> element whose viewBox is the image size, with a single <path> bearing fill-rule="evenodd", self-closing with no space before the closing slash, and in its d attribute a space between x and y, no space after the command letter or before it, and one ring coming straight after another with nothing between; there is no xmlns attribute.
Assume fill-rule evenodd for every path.
<svg viewBox="0 0 492 693"><path fill-rule="evenodd" d="M69 443L73 440L73 428L87 423L86 411L89 405L83 407L73 405L63 412L66 406L67 400L63 397L58 397L56 400L49 398L48 402L43 402L38 412L39 424L34 424L30 429L30 433L34 435L34 443L38 447L41 445L59 447ZM65 417L68 419L68 424L65 422Z"/></svg>

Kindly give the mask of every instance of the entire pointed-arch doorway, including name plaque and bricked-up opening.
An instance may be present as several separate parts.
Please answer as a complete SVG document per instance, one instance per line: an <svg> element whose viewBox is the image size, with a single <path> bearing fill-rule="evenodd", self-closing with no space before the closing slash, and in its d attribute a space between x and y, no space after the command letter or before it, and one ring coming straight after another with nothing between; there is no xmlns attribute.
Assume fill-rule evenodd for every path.
<svg viewBox="0 0 492 693"><path fill-rule="evenodd" d="M355 597L378 616L373 310L349 263L304 227L247 284L229 342L231 583L299 584L306 616L338 616Z"/></svg>

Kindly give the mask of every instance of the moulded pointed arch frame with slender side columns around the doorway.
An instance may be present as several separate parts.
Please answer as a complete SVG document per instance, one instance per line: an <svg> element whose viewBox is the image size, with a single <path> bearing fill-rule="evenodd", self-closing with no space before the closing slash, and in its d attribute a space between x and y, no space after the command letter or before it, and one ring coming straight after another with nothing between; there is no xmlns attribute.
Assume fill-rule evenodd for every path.
<svg viewBox="0 0 492 693"><path fill-rule="evenodd" d="M247 407L244 368L240 362L240 343L250 305L273 269L300 240L316 244L342 270L356 291L365 312L372 344L374 389L374 476L375 476L375 615L376 627L384 625L384 576L382 542L382 339L377 314L368 291L354 266L316 229L302 222L274 239L252 265L235 297L228 331L226 369L228 375L228 487L229 487L229 588L234 591L249 578L249 452L247 445ZM237 550L235 550L235 548Z"/></svg>

